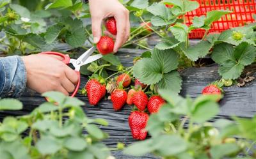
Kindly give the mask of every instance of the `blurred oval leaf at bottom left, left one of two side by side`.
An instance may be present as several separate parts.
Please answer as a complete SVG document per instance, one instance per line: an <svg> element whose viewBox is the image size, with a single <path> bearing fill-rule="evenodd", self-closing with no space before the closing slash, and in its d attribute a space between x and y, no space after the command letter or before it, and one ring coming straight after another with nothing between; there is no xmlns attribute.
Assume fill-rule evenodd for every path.
<svg viewBox="0 0 256 159"><path fill-rule="evenodd" d="M42 155L51 155L61 149L61 144L51 137L42 137L36 142L36 148Z"/></svg>

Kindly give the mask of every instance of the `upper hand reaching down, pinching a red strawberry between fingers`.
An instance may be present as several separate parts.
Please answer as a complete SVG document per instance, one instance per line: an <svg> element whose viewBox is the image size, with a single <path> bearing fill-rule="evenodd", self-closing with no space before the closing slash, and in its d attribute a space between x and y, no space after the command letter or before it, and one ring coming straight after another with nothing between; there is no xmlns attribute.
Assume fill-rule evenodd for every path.
<svg viewBox="0 0 256 159"><path fill-rule="evenodd" d="M102 20L115 17L116 41L114 52L127 41L130 34L129 11L118 0L89 0L92 15L92 33L94 43L98 43L101 36Z"/></svg>

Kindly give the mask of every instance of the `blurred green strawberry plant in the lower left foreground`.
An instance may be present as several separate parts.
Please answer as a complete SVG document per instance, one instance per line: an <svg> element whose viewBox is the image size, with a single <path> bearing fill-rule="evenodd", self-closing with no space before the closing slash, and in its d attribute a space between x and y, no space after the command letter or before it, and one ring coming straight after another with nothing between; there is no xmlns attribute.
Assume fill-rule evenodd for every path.
<svg viewBox="0 0 256 159"><path fill-rule="evenodd" d="M100 142L108 137L96 125L104 119L89 119L83 102L58 92L44 93L51 102L39 105L30 114L5 117L0 125L1 158L108 158ZM57 104L57 105L56 105ZM20 110L22 103L0 100L0 110ZM86 134L83 133L86 130Z"/></svg>

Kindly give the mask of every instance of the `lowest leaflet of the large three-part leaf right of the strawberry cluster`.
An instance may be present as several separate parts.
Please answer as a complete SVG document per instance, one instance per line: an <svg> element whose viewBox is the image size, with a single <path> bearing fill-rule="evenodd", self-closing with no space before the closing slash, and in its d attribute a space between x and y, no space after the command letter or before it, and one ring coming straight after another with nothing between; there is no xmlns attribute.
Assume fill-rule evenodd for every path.
<svg viewBox="0 0 256 159"><path fill-rule="evenodd" d="M182 79L179 72L172 71L164 73L163 79L157 84L159 89L169 89L174 93L179 93L181 89Z"/></svg>

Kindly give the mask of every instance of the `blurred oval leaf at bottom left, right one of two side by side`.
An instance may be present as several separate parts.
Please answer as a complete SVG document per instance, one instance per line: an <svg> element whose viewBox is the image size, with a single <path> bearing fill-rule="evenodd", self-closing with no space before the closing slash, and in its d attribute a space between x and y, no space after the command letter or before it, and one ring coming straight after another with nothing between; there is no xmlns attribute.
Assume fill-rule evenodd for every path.
<svg viewBox="0 0 256 159"><path fill-rule="evenodd" d="M82 151L87 147L87 142L80 137L68 137L68 139L65 140L64 145L71 151Z"/></svg>

